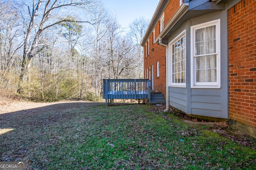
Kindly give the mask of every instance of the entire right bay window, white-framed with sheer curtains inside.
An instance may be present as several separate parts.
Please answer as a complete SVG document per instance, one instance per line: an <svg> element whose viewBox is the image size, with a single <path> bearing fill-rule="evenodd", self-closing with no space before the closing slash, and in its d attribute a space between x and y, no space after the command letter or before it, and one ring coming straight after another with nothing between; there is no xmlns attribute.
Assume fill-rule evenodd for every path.
<svg viewBox="0 0 256 170"><path fill-rule="evenodd" d="M191 27L192 87L220 87L220 19Z"/></svg>

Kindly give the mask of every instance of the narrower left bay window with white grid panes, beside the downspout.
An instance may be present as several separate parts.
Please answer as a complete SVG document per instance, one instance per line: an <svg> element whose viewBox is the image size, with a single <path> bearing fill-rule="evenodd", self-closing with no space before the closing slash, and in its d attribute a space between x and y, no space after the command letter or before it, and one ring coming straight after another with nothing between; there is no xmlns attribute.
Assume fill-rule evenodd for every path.
<svg viewBox="0 0 256 170"><path fill-rule="evenodd" d="M171 85L186 86L186 35L180 33L171 43Z"/></svg>

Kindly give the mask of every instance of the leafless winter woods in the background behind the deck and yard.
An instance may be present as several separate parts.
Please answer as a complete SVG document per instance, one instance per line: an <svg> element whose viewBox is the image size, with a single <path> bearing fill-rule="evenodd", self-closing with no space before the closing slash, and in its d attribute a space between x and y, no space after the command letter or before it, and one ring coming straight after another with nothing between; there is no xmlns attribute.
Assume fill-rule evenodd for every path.
<svg viewBox="0 0 256 170"><path fill-rule="evenodd" d="M0 8L1 96L96 101L103 78L143 78L144 18L124 29L98 0L8 0Z"/></svg>

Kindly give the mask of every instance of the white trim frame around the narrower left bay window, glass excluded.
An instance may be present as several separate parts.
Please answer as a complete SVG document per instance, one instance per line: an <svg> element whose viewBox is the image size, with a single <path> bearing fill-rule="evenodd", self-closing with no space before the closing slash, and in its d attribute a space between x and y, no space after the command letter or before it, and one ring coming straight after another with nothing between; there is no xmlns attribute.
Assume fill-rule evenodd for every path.
<svg viewBox="0 0 256 170"><path fill-rule="evenodd" d="M172 45L173 43L175 43L180 37L182 36L185 36L185 68L187 68L186 66L186 63L187 63L187 59L186 59L186 29L184 31L182 31L177 37L175 37L175 39L173 39L170 43L169 43L169 66L170 66L170 69L169 69L169 75L170 75L170 78L169 78L169 86L171 87L184 87L186 88L186 82L187 82L187 77L186 77L186 72L187 72L187 69L185 71L185 83L172 83Z"/></svg>

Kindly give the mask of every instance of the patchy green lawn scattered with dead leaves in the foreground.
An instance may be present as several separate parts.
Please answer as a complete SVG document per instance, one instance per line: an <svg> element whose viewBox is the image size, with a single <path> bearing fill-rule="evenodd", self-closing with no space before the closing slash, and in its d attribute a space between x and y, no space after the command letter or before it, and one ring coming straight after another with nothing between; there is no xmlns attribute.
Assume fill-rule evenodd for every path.
<svg viewBox="0 0 256 170"><path fill-rule="evenodd" d="M24 161L27 169L255 170L256 147L191 125L153 106L43 108L0 115L0 161ZM8 130L9 129L9 130ZM253 139L248 139L253 140Z"/></svg>

